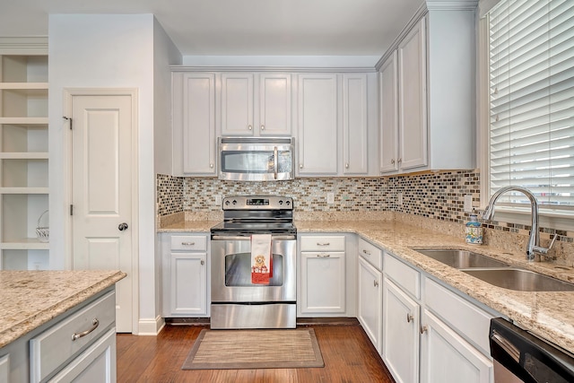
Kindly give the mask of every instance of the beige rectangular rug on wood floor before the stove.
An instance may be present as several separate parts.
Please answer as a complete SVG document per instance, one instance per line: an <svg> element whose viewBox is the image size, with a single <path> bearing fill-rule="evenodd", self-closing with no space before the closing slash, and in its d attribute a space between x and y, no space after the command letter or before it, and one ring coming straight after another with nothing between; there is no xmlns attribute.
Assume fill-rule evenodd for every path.
<svg viewBox="0 0 574 383"><path fill-rule="evenodd" d="M324 367L312 328L201 331L181 370Z"/></svg>

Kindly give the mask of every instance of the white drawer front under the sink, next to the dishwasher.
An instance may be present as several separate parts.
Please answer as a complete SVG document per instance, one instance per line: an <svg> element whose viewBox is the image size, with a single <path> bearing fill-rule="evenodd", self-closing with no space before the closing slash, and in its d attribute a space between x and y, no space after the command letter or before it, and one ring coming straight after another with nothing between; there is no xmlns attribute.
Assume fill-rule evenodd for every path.
<svg viewBox="0 0 574 383"><path fill-rule="evenodd" d="M424 281L424 301L428 309L459 335L478 346L485 355L490 354L489 328L493 316L430 278Z"/></svg>

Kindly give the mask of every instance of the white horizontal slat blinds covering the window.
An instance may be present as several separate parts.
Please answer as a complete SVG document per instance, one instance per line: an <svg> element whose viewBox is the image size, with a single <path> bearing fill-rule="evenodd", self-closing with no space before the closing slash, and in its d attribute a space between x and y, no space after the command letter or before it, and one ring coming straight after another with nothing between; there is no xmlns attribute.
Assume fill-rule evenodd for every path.
<svg viewBox="0 0 574 383"><path fill-rule="evenodd" d="M574 1L503 0L489 13L490 188L574 208ZM527 204L520 193L506 203Z"/></svg>

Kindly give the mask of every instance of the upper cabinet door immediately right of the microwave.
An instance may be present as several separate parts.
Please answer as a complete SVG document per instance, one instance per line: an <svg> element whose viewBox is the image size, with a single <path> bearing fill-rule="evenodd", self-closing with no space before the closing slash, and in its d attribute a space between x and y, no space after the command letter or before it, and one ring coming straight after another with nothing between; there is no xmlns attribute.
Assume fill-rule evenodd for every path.
<svg viewBox="0 0 574 383"><path fill-rule="evenodd" d="M336 74L299 76L299 175L336 175Z"/></svg>

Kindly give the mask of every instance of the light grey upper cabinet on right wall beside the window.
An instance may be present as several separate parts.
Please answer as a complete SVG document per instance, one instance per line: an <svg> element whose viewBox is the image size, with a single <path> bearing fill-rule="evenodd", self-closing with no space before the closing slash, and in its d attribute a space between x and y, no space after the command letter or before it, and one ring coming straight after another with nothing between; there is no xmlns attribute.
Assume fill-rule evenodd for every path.
<svg viewBox="0 0 574 383"><path fill-rule="evenodd" d="M431 5L379 67L381 174L475 166L474 11Z"/></svg>

